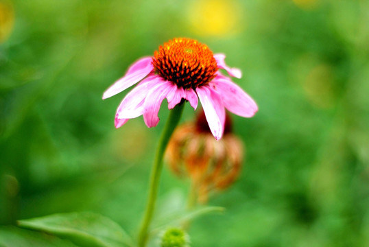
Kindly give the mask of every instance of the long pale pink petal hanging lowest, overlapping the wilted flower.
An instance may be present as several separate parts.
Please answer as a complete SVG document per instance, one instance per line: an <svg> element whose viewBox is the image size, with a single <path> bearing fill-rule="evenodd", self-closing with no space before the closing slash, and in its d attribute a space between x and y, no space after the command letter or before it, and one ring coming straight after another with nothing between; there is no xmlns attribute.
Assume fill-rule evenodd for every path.
<svg viewBox="0 0 369 247"><path fill-rule="evenodd" d="M226 119L226 110L224 110L222 98L219 93L210 86L201 86L196 89L199 95L206 121L215 139L222 138L224 132L224 121Z"/></svg>

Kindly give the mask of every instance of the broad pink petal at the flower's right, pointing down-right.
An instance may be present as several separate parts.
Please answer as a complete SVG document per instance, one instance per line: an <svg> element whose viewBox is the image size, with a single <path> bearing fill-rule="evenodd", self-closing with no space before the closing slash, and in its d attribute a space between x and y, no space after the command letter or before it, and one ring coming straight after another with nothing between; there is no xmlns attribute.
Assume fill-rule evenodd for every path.
<svg viewBox="0 0 369 247"><path fill-rule="evenodd" d="M215 77L211 84L221 95L224 106L241 117L252 117L257 113L257 104L237 84L226 77Z"/></svg>

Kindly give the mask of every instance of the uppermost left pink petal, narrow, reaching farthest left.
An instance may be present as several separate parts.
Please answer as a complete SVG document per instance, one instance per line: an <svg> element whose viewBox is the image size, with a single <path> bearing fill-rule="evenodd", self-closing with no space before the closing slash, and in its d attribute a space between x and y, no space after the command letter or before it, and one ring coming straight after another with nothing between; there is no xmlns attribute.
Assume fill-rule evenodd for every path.
<svg viewBox="0 0 369 247"><path fill-rule="evenodd" d="M132 66L128 69L126 75L123 78L117 80L112 86L110 86L102 96L103 99L108 97L112 97L121 91L128 89L133 84L136 84L146 75L148 75L154 67L152 66L152 58L145 57L137 60L132 64Z"/></svg>

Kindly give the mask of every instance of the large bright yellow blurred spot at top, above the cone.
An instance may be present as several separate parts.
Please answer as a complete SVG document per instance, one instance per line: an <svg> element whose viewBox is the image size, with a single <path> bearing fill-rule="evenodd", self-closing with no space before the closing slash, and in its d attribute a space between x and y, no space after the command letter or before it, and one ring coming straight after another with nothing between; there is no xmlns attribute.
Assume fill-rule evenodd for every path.
<svg viewBox="0 0 369 247"><path fill-rule="evenodd" d="M235 34L244 27L237 1L200 0L189 4L189 24L203 36ZM244 15L244 13L243 13Z"/></svg>

